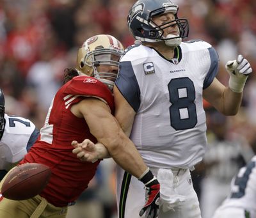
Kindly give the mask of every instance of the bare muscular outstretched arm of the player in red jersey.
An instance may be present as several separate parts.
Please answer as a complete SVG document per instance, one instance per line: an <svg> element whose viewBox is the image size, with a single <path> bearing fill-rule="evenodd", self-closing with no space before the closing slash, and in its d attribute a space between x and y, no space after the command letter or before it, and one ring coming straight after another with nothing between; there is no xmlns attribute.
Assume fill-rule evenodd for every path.
<svg viewBox="0 0 256 218"><path fill-rule="evenodd" d="M75 110L76 109L76 110ZM83 116L90 132L125 171L139 178L147 169L132 141L125 136L107 104L97 98L85 98L72 106L72 113Z"/></svg>

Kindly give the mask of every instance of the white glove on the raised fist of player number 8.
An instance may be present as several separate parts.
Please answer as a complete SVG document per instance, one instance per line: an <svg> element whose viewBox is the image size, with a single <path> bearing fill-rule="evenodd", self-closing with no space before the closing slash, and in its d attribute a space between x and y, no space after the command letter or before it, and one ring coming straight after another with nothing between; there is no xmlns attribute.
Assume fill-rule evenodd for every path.
<svg viewBox="0 0 256 218"><path fill-rule="evenodd" d="M236 60L228 61L225 67L230 75L228 81L230 90L241 93L248 75L252 73L250 63L239 54Z"/></svg>

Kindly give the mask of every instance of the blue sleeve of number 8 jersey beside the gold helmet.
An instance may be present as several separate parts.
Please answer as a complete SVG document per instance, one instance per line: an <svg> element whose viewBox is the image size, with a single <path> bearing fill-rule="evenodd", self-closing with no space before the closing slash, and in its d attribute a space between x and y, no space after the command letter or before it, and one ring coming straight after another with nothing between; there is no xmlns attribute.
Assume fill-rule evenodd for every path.
<svg viewBox="0 0 256 218"><path fill-rule="evenodd" d="M140 107L140 86L131 61L120 62L120 72L115 84L134 111L137 112Z"/></svg>

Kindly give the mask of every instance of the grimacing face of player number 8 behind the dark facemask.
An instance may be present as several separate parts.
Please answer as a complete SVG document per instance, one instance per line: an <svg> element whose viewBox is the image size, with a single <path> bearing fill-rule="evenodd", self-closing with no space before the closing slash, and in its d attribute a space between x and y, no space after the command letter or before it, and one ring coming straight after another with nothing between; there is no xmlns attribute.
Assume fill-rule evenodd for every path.
<svg viewBox="0 0 256 218"><path fill-rule="evenodd" d="M164 14L152 17L152 21L157 26L161 26L161 28L167 27L170 24L170 22L173 20L175 20L175 15L173 15L173 13L164 13ZM166 26L164 26L164 24L166 24ZM163 29L163 31L164 31L164 37L166 37L169 34L179 35L179 27L177 26L176 22L173 22L172 26L167 27L166 29Z"/></svg>

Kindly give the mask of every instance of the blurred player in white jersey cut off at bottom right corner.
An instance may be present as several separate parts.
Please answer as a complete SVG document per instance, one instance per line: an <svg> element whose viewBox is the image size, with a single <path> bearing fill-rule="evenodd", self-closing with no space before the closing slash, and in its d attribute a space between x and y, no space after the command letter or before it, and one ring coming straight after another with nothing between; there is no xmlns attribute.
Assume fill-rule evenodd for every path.
<svg viewBox="0 0 256 218"><path fill-rule="evenodd" d="M242 167L231 182L231 192L213 218L256 217L256 156Z"/></svg>

